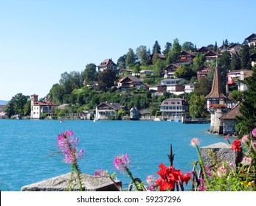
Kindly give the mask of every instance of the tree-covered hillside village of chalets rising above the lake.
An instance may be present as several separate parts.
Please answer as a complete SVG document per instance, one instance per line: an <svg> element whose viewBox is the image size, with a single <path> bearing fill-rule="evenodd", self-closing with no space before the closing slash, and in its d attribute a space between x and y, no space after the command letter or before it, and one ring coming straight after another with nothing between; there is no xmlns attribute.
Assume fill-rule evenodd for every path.
<svg viewBox="0 0 256 206"><path fill-rule="evenodd" d="M161 52L156 41L153 46L153 54L148 55L144 63L139 55L136 58L133 57L134 59L131 58L135 54L132 49L129 49L128 54L120 57L118 63L114 63L111 58L108 58L97 66L88 65L93 67L92 70L90 67L86 67L81 75L75 72L72 74L66 73L66 76L62 74L60 84L53 85L49 95L44 99L39 100L36 94L27 96L30 99L27 116L29 118L56 118L56 116L60 118L61 116L62 118L91 119L94 118L97 109L102 119L152 119L151 116L157 116L160 120L175 118L181 120L184 116L207 118L211 113L213 127L215 115L211 111L212 108L217 106L224 108L221 115L218 116L220 118L224 113L237 108L239 99L232 99L232 91L243 92L247 89L243 81L252 77L251 68L256 65L256 34L245 38L243 44L228 43L226 40L220 47L210 45L197 49L196 46L190 45L184 51L181 51L180 46L176 50L178 53L175 54L174 50L177 45L179 45L177 40L173 41L173 45L167 43L165 51ZM137 54L139 54L139 51ZM131 59L133 60L131 61ZM148 61L148 63L145 63L145 61ZM229 65L226 66L226 64ZM93 71L91 76L89 70ZM67 84L71 81L69 78L73 77L74 79L78 76L83 77L80 78L83 80L83 85L76 83L75 80L72 85ZM81 82L81 80L79 81ZM206 84L204 84L205 81L207 81ZM75 86L73 87L73 85ZM64 89L68 91L63 93ZM198 90L203 89L204 92L198 92ZM97 92L94 91L95 95L103 90L106 93L109 90L112 93L117 93L118 90L120 98L117 97L114 99L115 102L111 102L114 95L109 99L97 97L97 100L91 102L91 99L89 101L86 99L86 96L89 96L87 90L97 90ZM152 109L149 110L150 101L147 100L148 97L145 97L148 96L147 91L150 91L151 102L153 102L153 98L156 102L161 100L159 104L155 104L154 113ZM61 93L63 93L62 96ZM131 93L134 95L139 93L144 97L139 98L139 103L135 102L135 104L133 102L133 105L123 105L125 100L122 101L121 98L126 96L127 93L130 96ZM201 112L195 109L201 107L193 102L193 99L196 99L195 95L204 96L201 100L201 104L204 103L203 107L198 109L203 110ZM131 97L129 98L131 100ZM100 99L105 99L105 101ZM129 100L127 99L126 103L128 103L127 101ZM65 110L67 106L70 107L70 105L74 106L75 104L78 105L75 112L74 110L72 112ZM85 104L87 105L83 106ZM16 115L16 117L24 116L21 113L11 113L10 115L10 104L7 104L5 108L1 105L0 108L1 118L10 118L13 115ZM60 115L61 110L62 113L66 114ZM234 129L230 128L225 132L224 119L225 117L223 117L221 123L218 123L218 129L213 129L214 132L234 132ZM229 120L231 119L233 121L235 116L229 116Z"/></svg>

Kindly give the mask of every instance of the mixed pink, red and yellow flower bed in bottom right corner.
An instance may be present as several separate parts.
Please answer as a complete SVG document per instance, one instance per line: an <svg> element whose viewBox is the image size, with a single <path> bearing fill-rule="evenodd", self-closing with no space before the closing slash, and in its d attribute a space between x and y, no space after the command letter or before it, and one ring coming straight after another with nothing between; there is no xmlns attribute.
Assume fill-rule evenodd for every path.
<svg viewBox="0 0 256 206"><path fill-rule="evenodd" d="M256 128L252 129L250 135L243 135L241 139L235 139L229 142L231 149L236 152L237 160L230 163L227 160L221 160L216 157L212 150L208 151L212 159L212 166L203 166L204 172L197 181L193 182L197 191L256 191L256 148L254 138L256 137ZM198 142L193 139L191 145ZM197 147L198 149L198 147ZM241 154L241 159L239 155ZM200 159L199 153L199 159ZM236 163L235 163L236 162Z"/></svg>

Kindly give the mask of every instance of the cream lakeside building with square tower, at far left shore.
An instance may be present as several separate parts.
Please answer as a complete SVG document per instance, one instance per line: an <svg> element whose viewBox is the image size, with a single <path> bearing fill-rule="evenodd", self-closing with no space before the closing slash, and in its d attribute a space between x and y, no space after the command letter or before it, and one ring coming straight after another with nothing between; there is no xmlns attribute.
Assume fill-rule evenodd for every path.
<svg viewBox="0 0 256 206"><path fill-rule="evenodd" d="M49 116L54 112L54 108L57 104L49 101L38 101L38 95L31 95L31 113L30 118L41 118L44 113Z"/></svg>

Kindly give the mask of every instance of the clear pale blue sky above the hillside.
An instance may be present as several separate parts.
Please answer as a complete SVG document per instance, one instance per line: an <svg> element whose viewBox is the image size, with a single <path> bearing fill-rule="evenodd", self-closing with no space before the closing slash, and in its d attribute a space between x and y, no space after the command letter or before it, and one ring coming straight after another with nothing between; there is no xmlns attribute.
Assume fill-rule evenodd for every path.
<svg viewBox="0 0 256 206"><path fill-rule="evenodd" d="M60 74L175 38L199 48L243 43L255 0L0 0L0 99L46 96Z"/></svg>

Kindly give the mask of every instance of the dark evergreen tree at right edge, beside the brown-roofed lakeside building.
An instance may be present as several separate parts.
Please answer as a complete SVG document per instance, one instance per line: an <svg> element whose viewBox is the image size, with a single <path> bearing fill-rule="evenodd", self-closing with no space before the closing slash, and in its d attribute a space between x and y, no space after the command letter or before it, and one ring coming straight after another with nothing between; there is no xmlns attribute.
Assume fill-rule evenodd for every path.
<svg viewBox="0 0 256 206"><path fill-rule="evenodd" d="M247 135L256 127L256 66L252 68L252 77L245 80L248 89L243 92L241 116L238 117L237 129L241 135Z"/></svg>

